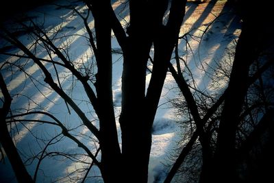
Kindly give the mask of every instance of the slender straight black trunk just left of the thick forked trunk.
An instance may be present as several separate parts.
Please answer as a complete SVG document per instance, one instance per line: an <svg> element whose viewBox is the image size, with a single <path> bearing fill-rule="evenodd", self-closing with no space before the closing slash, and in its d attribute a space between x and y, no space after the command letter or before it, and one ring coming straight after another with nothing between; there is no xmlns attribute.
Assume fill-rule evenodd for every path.
<svg viewBox="0 0 274 183"><path fill-rule="evenodd" d="M97 116L100 123L101 173L105 183L121 182L121 150L119 147L112 99L112 52L110 1L94 1L97 40ZM107 9L107 10L105 10Z"/></svg>

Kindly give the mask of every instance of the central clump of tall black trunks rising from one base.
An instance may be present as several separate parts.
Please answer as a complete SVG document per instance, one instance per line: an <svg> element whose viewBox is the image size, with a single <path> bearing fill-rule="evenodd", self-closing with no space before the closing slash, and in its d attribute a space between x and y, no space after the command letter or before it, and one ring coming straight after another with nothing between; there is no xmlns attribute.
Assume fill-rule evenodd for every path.
<svg viewBox="0 0 274 183"><path fill-rule="evenodd" d="M109 173L106 173L106 169L104 169L104 167L109 167L109 171L113 169L112 174L116 173L117 177L120 177L118 182L145 183L148 178L149 154L151 150L151 126L158 107L162 86L166 77L167 66L173 52L173 47L177 41L179 28L184 17L186 1L175 0L173 2L171 8L173 13L170 15L171 20L167 23L167 29L162 25L162 18L168 3L167 0L162 1L162 7L160 9L158 9L158 6L156 5L158 1L129 1L130 26L127 27L128 37L123 35L123 32L121 32L121 27L119 28L119 26L116 26L116 22L109 22L109 20L111 20L110 18L112 18L112 20L114 19L113 17L108 17L113 16L113 14L105 14L105 11L103 11L103 6L106 8L106 4L99 3L98 1L90 2L92 3L90 9L95 17L95 29L97 33L98 73L96 87L99 108L99 112L97 114L99 114L101 133L99 140L102 151L102 175L105 182L108 180L117 182L116 180L119 180L119 178L115 177L112 177L114 178L112 179L110 178L111 176L106 178ZM156 8L157 11L151 11L153 8ZM104 19L102 16L106 18ZM104 24L107 25L107 27L104 27L104 29L101 27L100 29L100 22L101 25ZM114 151L113 154L113 151L108 149L108 147L111 147L108 145L110 145L111 141L113 142L113 139L111 139L111 137L105 137L105 135L103 136L103 134L110 133L111 136L114 137L114 131L108 130L108 128L113 127L112 122L110 125L104 125L104 123L106 123L104 121L113 121L113 119L100 115L101 103L105 103L104 105L105 110L108 112L107 114L112 114L112 109L109 108L109 106L112 106L112 103L110 103L110 98L108 98L106 96L107 94L105 94L104 96L106 99L103 99L103 94L101 94L101 92L105 92L110 95L111 88L110 80L108 80L111 75L111 71L109 70L111 68L109 65L110 56L108 52L110 51L110 29L108 25L112 25L114 32L118 35L117 39L119 44L121 44L124 57L122 75L122 109L119 119L122 132L122 163L117 162L116 165L119 167L116 167L116 169L113 167L114 164L108 163L111 162L111 158L104 158L119 157L118 155L114 155L116 154L116 151ZM108 38L104 39L101 37L100 42L100 35L103 36L103 34ZM161 42L162 36L166 34L169 36L166 36L164 41ZM151 78L148 89L149 91L145 97L147 60L149 58L152 42L157 42L156 45L158 45L158 53L155 53L155 66L153 67L152 76L153 79ZM102 51L106 51L101 52L101 60L100 47ZM105 64L107 65L105 66ZM109 73L105 73L105 70L100 70L100 67L106 69L106 72ZM110 88L108 88L107 85ZM130 179L129 181L127 181L128 178Z"/></svg>

